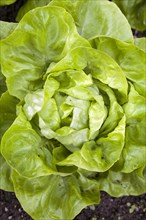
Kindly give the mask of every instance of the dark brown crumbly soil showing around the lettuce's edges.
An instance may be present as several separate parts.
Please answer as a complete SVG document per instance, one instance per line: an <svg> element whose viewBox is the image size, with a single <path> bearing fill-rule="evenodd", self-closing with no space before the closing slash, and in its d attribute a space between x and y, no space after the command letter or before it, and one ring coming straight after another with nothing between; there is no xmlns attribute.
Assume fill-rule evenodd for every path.
<svg viewBox="0 0 146 220"><path fill-rule="evenodd" d="M14 22L17 11L26 0L0 7L0 20ZM133 30L137 37L146 36L146 31ZM113 198L101 192L100 205L85 208L74 220L146 220L146 194ZM22 209L14 193L0 190L1 220L32 220ZM49 220L49 219L46 219Z"/></svg>

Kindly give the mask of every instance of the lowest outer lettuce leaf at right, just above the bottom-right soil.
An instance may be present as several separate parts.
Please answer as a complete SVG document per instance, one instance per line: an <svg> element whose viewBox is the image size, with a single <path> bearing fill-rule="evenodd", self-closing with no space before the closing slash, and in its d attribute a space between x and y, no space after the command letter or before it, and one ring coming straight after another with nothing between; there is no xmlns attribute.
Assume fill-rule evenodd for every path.
<svg viewBox="0 0 146 220"><path fill-rule="evenodd" d="M142 167L143 170L143 167ZM108 171L100 174L97 181L100 190L114 197L123 195L140 195L145 193L146 179L140 174L141 168L131 173Z"/></svg>

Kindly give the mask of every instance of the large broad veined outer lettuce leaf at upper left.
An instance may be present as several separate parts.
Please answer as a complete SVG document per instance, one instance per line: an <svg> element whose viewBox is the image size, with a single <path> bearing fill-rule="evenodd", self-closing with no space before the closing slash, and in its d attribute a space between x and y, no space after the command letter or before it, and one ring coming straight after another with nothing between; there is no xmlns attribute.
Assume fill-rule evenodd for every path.
<svg viewBox="0 0 146 220"><path fill-rule="evenodd" d="M72 17L63 8L28 12L2 41L2 73L10 94L23 99L29 91L41 88L48 66L79 45L89 43L78 35Z"/></svg>

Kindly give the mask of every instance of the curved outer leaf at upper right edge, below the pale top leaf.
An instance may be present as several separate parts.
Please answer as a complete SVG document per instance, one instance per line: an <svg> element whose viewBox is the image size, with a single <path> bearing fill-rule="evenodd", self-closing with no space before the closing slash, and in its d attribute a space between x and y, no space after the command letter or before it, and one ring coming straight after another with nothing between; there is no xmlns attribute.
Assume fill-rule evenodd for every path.
<svg viewBox="0 0 146 220"><path fill-rule="evenodd" d="M145 53L134 45L108 37L96 38L94 43L98 50L104 51L116 60L139 94L145 96Z"/></svg>

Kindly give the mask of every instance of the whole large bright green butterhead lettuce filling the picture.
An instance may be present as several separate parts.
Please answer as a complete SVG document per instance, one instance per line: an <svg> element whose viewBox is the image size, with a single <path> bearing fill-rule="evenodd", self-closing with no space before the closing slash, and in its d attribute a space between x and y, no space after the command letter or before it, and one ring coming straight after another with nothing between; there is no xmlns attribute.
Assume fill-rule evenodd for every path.
<svg viewBox="0 0 146 220"><path fill-rule="evenodd" d="M144 40L118 7L53 0L7 27L1 189L33 219L60 220L99 203L100 191L145 193Z"/></svg>

